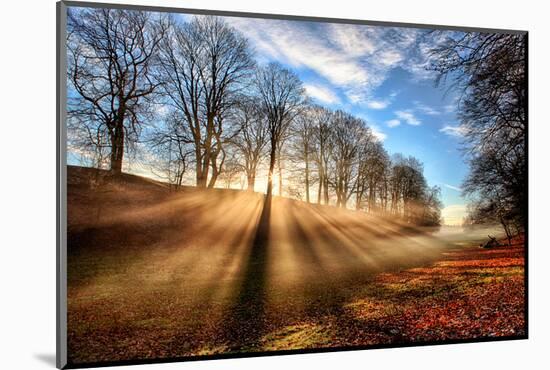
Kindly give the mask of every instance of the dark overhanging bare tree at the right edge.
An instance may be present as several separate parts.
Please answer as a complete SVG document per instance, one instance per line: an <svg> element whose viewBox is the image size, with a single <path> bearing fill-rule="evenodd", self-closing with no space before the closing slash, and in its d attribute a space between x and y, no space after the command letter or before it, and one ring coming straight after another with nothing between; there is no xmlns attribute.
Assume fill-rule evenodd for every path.
<svg viewBox="0 0 550 370"><path fill-rule="evenodd" d="M524 229L526 36L454 33L432 51L432 57L440 81L450 79L462 93L458 108L471 168L464 189L474 198L472 216L488 216L476 211L481 204L502 216L506 232L510 222Z"/></svg>

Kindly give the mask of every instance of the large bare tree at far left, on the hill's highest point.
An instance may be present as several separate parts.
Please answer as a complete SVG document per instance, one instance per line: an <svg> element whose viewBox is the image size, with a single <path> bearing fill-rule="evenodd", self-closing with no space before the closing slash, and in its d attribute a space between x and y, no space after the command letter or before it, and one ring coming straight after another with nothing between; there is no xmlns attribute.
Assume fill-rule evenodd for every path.
<svg viewBox="0 0 550 370"><path fill-rule="evenodd" d="M67 31L69 120L84 140L110 150L110 169L120 174L159 86L150 70L166 23L142 11L70 9Z"/></svg>

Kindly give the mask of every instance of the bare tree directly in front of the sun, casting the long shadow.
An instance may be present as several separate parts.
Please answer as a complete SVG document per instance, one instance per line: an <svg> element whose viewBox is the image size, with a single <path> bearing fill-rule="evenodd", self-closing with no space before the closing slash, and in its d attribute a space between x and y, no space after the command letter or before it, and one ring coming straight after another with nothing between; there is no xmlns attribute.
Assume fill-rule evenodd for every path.
<svg viewBox="0 0 550 370"><path fill-rule="evenodd" d="M305 103L304 89L298 76L277 63L270 63L258 68L255 83L268 123L269 172L267 197L271 197L277 148L290 123Z"/></svg>

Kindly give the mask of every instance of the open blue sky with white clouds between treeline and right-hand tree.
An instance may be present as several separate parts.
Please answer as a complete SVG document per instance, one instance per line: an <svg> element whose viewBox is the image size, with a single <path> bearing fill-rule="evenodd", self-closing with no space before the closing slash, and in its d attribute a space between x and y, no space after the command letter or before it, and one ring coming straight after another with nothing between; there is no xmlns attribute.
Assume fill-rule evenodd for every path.
<svg viewBox="0 0 550 370"><path fill-rule="evenodd" d="M445 223L460 223L468 172L460 152L457 94L435 87L428 51L441 36L426 30L226 17L260 63L291 68L317 103L364 118L386 149L424 163L439 185ZM439 37L439 39L438 39Z"/></svg>

